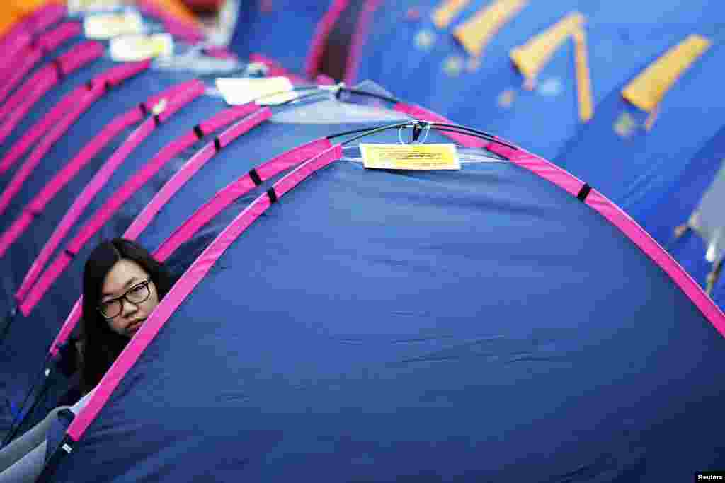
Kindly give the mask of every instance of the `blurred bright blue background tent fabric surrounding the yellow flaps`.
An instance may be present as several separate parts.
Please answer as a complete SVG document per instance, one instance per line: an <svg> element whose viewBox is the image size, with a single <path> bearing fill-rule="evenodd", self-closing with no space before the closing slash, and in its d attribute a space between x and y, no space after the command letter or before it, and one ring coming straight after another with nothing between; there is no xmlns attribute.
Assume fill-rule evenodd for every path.
<svg viewBox="0 0 725 483"><path fill-rule="evenodd" d="M711 164L700 164L697 153L715 142L721 128L720 106L711 95L721 55L713 19L721 4L666 2L658 4L655 14L651 6L617 2L529 2L476 59L453 33L488 3L465 2L445 27L432 19L441 1L381 4L359 75L553 159L623 206L660 243L668 243L674 227L703 195L700 184L708 185L713 175ZM576 115L571 40L544 64L532 91L510 62L512 49L571 12L580 12L585 20L595 101L594 116L586 123ZM714 45L684 71L653 113L639 111L623 98L634 77L695 33ZM689 184L692 177L700 184Z"/></svg>

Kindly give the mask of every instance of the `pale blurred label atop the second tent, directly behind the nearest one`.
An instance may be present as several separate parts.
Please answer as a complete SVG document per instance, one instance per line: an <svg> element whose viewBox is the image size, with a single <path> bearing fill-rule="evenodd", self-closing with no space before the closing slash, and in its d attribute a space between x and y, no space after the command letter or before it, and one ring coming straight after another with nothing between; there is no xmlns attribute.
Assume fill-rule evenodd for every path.
<svg viewBox="0 0 725 483"><path fill-rule="evenodd" d="M218 77L217 88L230 106L241 106L255 101L260 106L275 106L297 98L287 77L233 79Z"/></svg>

